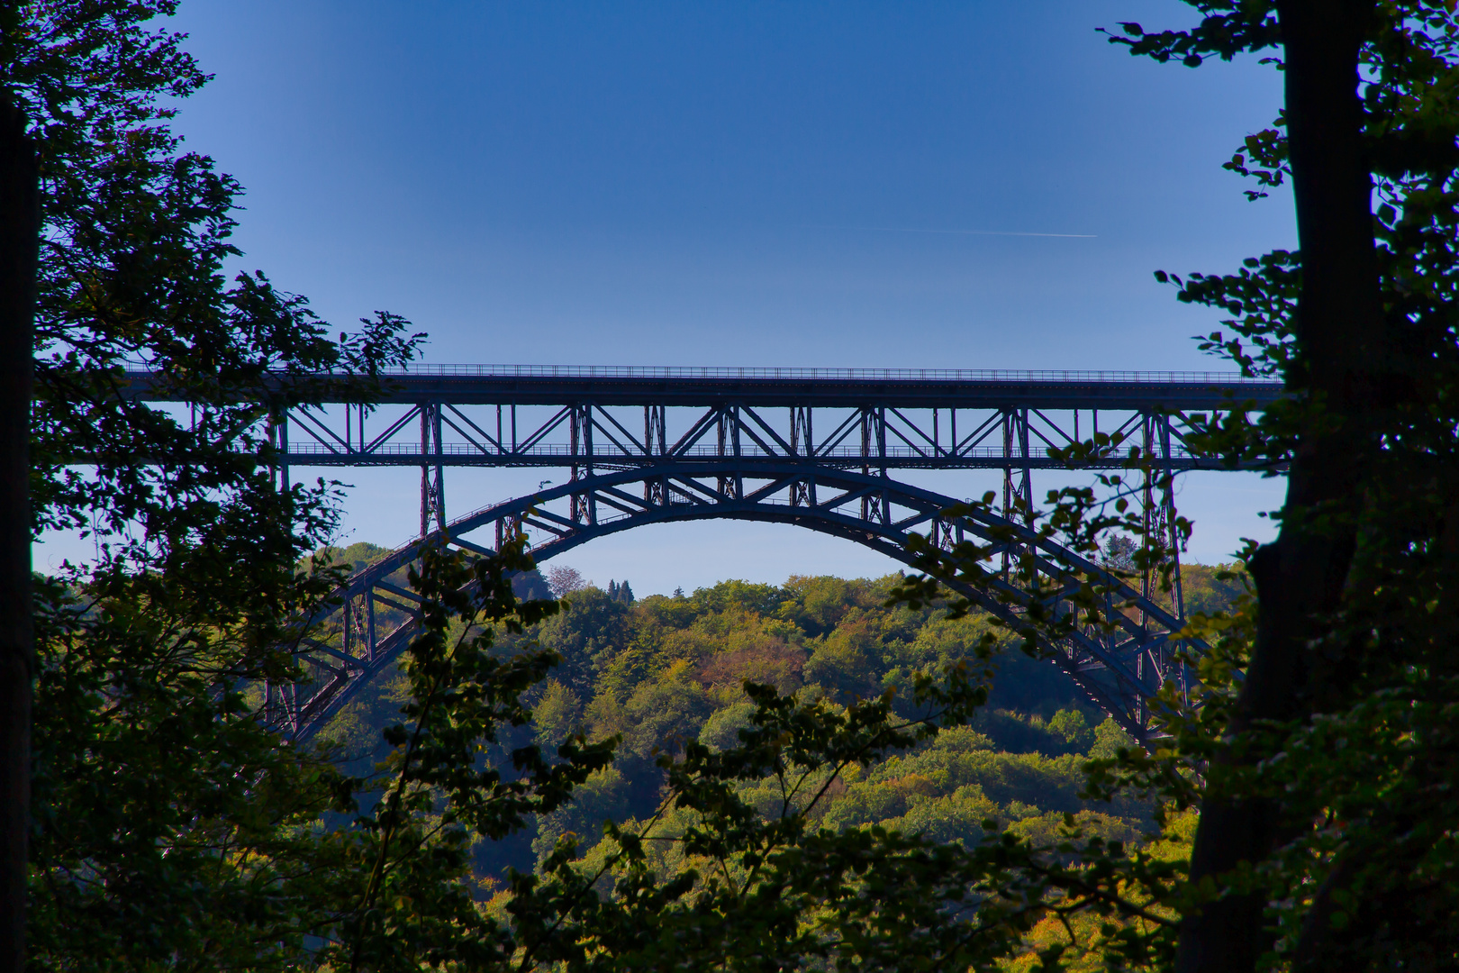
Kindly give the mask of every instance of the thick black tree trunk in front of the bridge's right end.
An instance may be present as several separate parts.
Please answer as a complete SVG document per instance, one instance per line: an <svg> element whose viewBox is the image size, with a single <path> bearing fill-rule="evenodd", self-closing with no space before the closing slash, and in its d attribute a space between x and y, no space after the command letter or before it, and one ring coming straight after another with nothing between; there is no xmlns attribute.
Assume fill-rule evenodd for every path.
<svg viewBox="0 0 1459 973"><path fill-rule="evenodd" d="M1319 683L1331 674L1306 651L1313 619L1334 610L1352 560L1350 524L1312 530L1293 513L1315 506L1351 511L1363 443L1382 369L1383 318L1373 248L1373 181L1363 152L1358 51L1371 0L1277 0L1285 60L1288 144L1301 295L1297 305L1300 363L1294 392L1317 395L1335 430L1306 438L1287 483L1287 519L1278 538L1252 560L1261 605L1256 646L1242 687L1233 731L1262 719L1312 712ZM1259 862L1284 837L1278 807L1212 794L1201 810L1192 878ZM1269 939L1262 935L1261 896L1233 896L1186 919L1182 973L1252 970Z"/></svg>

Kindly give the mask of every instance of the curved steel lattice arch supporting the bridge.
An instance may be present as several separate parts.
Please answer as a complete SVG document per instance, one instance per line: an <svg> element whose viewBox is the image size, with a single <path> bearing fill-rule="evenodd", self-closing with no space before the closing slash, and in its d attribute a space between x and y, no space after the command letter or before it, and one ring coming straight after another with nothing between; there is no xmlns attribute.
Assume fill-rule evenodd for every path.
<svg viewBox="0 0 1459 973"><path fill-rule="evenodd" d="M868 499L875 503L868 505ZM1110 589L1106 614L1122 635L1109 639L1075 632L1056 646L1052 661L1126 732L1144 741L1150 734L1147 699L1163 681L1185 678L1169 643L1170 633L1182 627L1177 614L1020 522L982 511L957 518L943 515L957 503L954 497L890 477L814 462L788 468L727 457L716 464L686 465L668 460L646 468L579 474L550 490L457 518L355 575L337 595L346 607L343 651L301 646L318 667L312 691L295 690L282 700L270 700L287 732L306 738L398 658L414 629L410 604L414 597L387 579L411 563L423 546L444 541L484 554L498 548L505 537L525 531L540 563L589 540L646 524L728 518L814 530L907 565L912 557L906 543L913 531L944 548L972 540L985 547L989 565L1005 553L1032 559L1043 582L1037 597L1055 614L1068 610L1065 598L1083 578L1093 578ZM592 513L582 515L584 509ZM477 531L487 532L490 540L465 540ZM983 586L953 586L985 611L1014 624L1036 597L998 573L989 575ZM390 633L378 633L376 604L403 611L407 621ZM1125 610L1134 610L1138 620ZM360 623L366 613L368 623Z"/></svg>

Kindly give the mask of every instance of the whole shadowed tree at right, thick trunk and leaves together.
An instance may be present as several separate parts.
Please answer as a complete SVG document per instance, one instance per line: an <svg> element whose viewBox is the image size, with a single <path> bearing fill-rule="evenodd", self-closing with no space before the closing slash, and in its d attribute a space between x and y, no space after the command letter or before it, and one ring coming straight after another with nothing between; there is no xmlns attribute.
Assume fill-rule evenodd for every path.
<svg viewBox="0 0 1459 973"><path fill-rule="evenodd" d="M1160 945L1151 961L1166 957L1157 964L1452 966L1453 4L1191 6L1202 15L1196 28L1126 23L1112 41L1192 67L1269 53L1284 73L1285 108L1227 168L1258 181L1253 200L1290 181L1301 249L1250 258L1234 274L1157 277L1176 283L1182 301L1231 315L1205 349L1247 375L1285 382L1290 397L1258 425L1239 413L1221 425L1192 419L1211 452L1287 464L1288 492L1278 540L1243 559L1256 600L1233 619L1195 626L1215 643L1201 664L1204 708L1192 712L1167 694L1169 745L1096 767L1091 786L1201 807L1189 884L1163 896L1169 915L1182 918L1179 957L1160 951L1172 945L1167 932L1163 944L1150 941ZM1078 460L1110 445L1085 442L1062 455ZM1131 465L1141 465L1138 457ZM1115 477L1104 484L1125 489ZM1131 518L1106 515L1093 492L1050 495L1050 505L1046 528L1084 550L1094 550L1100 530L1138 532ZM1156 538L1147 540L1141 566L1160 556ZM941 578L979 570L976 551L924 553Z"/></svg>

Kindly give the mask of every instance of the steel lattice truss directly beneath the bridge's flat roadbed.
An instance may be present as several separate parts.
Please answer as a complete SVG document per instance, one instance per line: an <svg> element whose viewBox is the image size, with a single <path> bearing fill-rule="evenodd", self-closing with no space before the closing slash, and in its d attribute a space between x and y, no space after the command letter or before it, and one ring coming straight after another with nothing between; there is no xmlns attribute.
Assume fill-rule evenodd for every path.
<svg viewBox="0 0 1459 973"><path fill-rule="evenodd" d="M709 406L623 406L588 398L519 410L516 404L430 398L406 406L404 416L376 419L384 430L374 436L365 435L365 410L357 407L330 414L295 408L280 419L279 445L285 465L394 465L436 471L444 467L629 468L651 467L667 458L712 465L731 455L789 465L813 461L862 471L1001 468L1010 476L1005 499L1011 500L1013 496L1030 499L1033 470L1068 468L1067 461L1049 457L1049 449L1069 446L1094 432L1118 433L1125 438L1119 446L1110 446L1083 465L1119 468L1131 446L1144 445L1138 442L1139 432L1157 423L1161 432L1151 445L1163 451L1170 470L1224 468L1218 460L1189 449L1188 426L1179 411L1172 411L1189 404L1179 397L1172 398L1172 406L1158 408L1104 407L1103 429L1099 407L1021 406L1017 397L1008 401L1013 404L928 408L875 397L855 407L781 407L740 400ZM1233 407L1242 403L1227 403L1227 408ZM639 411L642 435L636 432ZM417 416L422 423L419 441L410 432ZM818 430L824 432L817 438ZM1013 473L1020 477L1013 478Z"/></svg>

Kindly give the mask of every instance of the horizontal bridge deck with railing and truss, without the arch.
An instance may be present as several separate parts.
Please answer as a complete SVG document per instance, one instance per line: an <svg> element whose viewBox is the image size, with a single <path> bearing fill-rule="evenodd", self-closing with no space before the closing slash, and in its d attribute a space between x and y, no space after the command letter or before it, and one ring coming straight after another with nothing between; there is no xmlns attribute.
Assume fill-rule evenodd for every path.
<svg viewBox="0 0 1459 973"><path fill-rule="evenodd" d="M1032 471L1062 465L1049 448L1097 430L1113 439L1085 465L1119 467L1138 445L1167 470L1195 470L1215 464L1189 449L1179 413L1261 410L1282 394L1223 372L417 365L382 376L360 408L340 403L349 378L318 378L322 394L301 394L325 406L276 420L286 465L566 467L573 477L665 460ZM309 379L271 385L289 381ZM128 394L172 398L150 372L133 372Z"/></svg>

